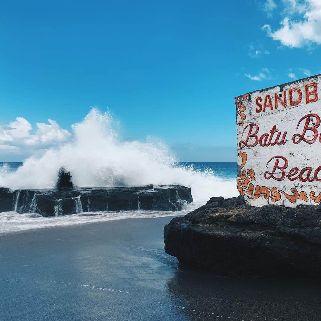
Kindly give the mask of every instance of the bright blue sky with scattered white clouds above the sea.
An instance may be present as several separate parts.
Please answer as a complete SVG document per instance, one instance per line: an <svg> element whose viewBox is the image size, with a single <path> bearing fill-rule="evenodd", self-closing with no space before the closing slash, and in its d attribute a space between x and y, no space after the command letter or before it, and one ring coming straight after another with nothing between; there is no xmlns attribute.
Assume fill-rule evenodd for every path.
<svg viewBox="0 0 321 321"><path fill-rule="evenodd" d="M234 97L321 73L320 11L320 0L7 1L0 160L64 143L97 106L124 139L236 161Z"/></svg>

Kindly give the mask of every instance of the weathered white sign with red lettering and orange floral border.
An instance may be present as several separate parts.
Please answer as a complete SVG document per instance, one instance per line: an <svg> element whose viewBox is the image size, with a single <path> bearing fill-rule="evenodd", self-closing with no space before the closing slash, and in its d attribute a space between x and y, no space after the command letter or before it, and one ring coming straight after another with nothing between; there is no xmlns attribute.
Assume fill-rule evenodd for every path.
<svg viewBox="0 0 321 321"><path fill-rule="evenodd" d="M235 97L237 188L246 203L321 201L321 75Z"/></svg>

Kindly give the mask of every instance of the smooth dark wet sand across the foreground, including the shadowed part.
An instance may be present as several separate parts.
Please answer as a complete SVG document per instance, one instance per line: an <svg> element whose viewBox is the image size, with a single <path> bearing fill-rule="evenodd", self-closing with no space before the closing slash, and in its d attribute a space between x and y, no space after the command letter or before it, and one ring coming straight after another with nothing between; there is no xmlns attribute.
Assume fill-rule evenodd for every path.
<svg viewBox="0 0 321 321"><path fill-rule="evenodd" d="M164 252L170 219L0 235L0 320L321 319L319 281L238 280L180 267Z"/></svg>

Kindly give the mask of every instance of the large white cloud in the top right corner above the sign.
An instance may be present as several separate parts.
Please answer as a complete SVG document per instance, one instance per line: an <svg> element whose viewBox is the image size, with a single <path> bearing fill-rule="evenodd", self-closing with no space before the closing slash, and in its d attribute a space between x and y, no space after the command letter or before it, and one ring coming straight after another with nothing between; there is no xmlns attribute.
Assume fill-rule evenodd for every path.
<svg viewBox="0 0 321 321"><path fill-rule="evenodd" d="M267 35L292 48L321 44L321 0L283 0L283 4L281 27L273 31L265 24L262 29ZM297 14L301 16L299 20Z"/></svg>

